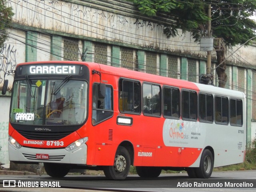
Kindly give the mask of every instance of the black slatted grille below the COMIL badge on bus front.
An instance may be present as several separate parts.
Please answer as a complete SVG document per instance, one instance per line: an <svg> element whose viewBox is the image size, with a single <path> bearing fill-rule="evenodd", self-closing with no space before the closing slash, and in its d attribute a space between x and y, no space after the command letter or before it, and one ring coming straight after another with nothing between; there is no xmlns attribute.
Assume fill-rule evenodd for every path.
<svg viewBox="0 0 256 192"><path fill-rule="evenodd" d="M67 132L36 132L36 131L24 131L17 130L22 136L30 140L60 140L73 131Z"/></svg>

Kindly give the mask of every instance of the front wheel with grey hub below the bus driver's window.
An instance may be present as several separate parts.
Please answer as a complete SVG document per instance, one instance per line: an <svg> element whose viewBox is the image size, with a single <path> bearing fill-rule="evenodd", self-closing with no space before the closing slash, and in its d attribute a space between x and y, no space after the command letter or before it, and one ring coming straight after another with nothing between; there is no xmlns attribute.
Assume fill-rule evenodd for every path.
<svg viewBox="0 0 256 192"><path fill-rule="evenodd" d="M113 166L106 166L104 174L112 180L123 180L127 177L131 166L130 154L126 148L119 146L116 150Z"/></svg>

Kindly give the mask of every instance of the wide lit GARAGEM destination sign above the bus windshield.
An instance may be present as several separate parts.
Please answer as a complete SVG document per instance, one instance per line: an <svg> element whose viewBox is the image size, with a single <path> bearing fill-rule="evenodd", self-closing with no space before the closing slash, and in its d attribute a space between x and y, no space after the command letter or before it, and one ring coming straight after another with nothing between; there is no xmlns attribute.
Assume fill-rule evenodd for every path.
<svg viewBox="0 0 256 192"><path fill-rule="evenodd" d="M56 75L82 75L82 66L79 65L24 65L20 67L20 75L26 74L56 74Z"/></svg>

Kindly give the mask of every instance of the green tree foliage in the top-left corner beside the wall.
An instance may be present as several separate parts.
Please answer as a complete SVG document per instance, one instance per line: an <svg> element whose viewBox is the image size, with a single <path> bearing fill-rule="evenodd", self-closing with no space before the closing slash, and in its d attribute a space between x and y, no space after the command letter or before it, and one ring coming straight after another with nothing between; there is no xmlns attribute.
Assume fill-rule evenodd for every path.
<svg viewBox="0 0 256 192"><path fill-rule="evenodd" d="M13 15L12 8L6 6L6 0L0 0L0 48L8 37L6 28L10 28Z"/></svg>

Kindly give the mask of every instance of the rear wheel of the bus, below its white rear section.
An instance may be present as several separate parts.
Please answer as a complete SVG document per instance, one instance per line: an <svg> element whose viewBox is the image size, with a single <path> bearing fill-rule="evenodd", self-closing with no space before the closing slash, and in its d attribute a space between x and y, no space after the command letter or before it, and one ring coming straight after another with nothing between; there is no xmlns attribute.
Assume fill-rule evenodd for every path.
<svg viewBox="0 0 256 192"><path fill-rule="evenodd" d="M200 166L196 168L196 175L200 179L208 179L212 175L214 161L210 150L206 149L202 152Z"/></svg>

